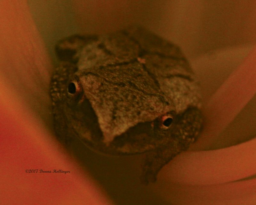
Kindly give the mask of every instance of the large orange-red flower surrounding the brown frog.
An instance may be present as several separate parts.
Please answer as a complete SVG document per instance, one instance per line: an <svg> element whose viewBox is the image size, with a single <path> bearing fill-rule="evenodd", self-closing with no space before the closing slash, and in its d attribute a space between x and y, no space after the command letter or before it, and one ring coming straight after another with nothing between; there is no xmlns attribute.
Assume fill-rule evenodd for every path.
<svg viewBox="0 0 256 205"><path fill-rule="evenodd" d="M1 204L256 204L256 47L238 46L255 43L256 4L161 3L0 2ZM233 13L225 16L224 11ZM67 27L66 15L72 18ZM233 20L236 16L248 24ZM139 184L139 156L109 158L76 144L78 162L57 142L52 128L53 40L65 37L62 29L67 35L104 33L131 23L181 45L193 58L204 101L200 138L149 186ZM240 33L235 29L239 23Z"/></svg>

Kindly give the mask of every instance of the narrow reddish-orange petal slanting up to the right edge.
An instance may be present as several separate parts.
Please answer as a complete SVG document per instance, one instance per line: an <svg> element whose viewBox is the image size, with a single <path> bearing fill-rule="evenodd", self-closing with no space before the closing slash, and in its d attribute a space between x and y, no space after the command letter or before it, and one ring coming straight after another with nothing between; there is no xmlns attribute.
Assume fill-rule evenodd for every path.
<svg viewBox="0 0 256 205"><path fill-rule="evenodd" d="M210 143L256 93L256 47L221 85L203 110L204 129L196 144ZM196 145L195 145L196 146Z"/></svg>

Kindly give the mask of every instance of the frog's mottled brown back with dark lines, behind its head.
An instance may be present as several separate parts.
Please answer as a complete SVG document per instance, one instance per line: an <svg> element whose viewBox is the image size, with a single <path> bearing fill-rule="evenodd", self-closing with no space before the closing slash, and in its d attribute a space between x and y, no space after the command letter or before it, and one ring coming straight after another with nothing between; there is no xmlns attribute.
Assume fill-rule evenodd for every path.
<svg viewBox="0 0 256 205"><path fill-rule="evenodd" d="M121 75L116 76L123 73L126 81L134 85L139 82L138 76L132 76L136 73L134 69L137 68L139 75L143 70L147 75L144 79L149 77L154 82L148 87L160 88L177 113L189 106L201 106L198 82L179 47L144 28L131 27L99 36L97 41L84 46L79 56L78 70L98 73L106 78L108 71L120 72ZM129 72L131 75L127 74ZM109 80L116 80L113 77L114 74ZM147 87L147 82L142 84Z"/></svg>

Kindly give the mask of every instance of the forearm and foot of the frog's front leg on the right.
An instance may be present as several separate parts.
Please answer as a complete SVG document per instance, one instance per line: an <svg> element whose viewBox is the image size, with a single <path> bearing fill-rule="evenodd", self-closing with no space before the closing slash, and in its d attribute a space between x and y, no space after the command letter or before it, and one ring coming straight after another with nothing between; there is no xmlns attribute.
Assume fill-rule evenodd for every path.
<svg viewBox="0 0 256 205"><path fill-rule="evenodd" d="M173 152L171 148L158 149L147 153L142 165L141 183L147 185L149 182L155 182L157 173L178 153Z"/></svg>

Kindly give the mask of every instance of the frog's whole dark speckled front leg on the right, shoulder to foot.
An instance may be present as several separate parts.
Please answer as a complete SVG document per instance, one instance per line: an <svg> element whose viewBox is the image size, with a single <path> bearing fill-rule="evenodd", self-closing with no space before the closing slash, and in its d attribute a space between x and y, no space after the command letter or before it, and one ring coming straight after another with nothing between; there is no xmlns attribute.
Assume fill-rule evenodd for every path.
<svg viewBox="0 0 256 205"><path fill-rule="evenodd" d="M156 175L161 168L178 155L188 149L202 129L202 114L197 108L188 108L176 125L176 131L169 137L169 142L163 148L148 152L143 164L141 182L155 182Z"/></svg>

